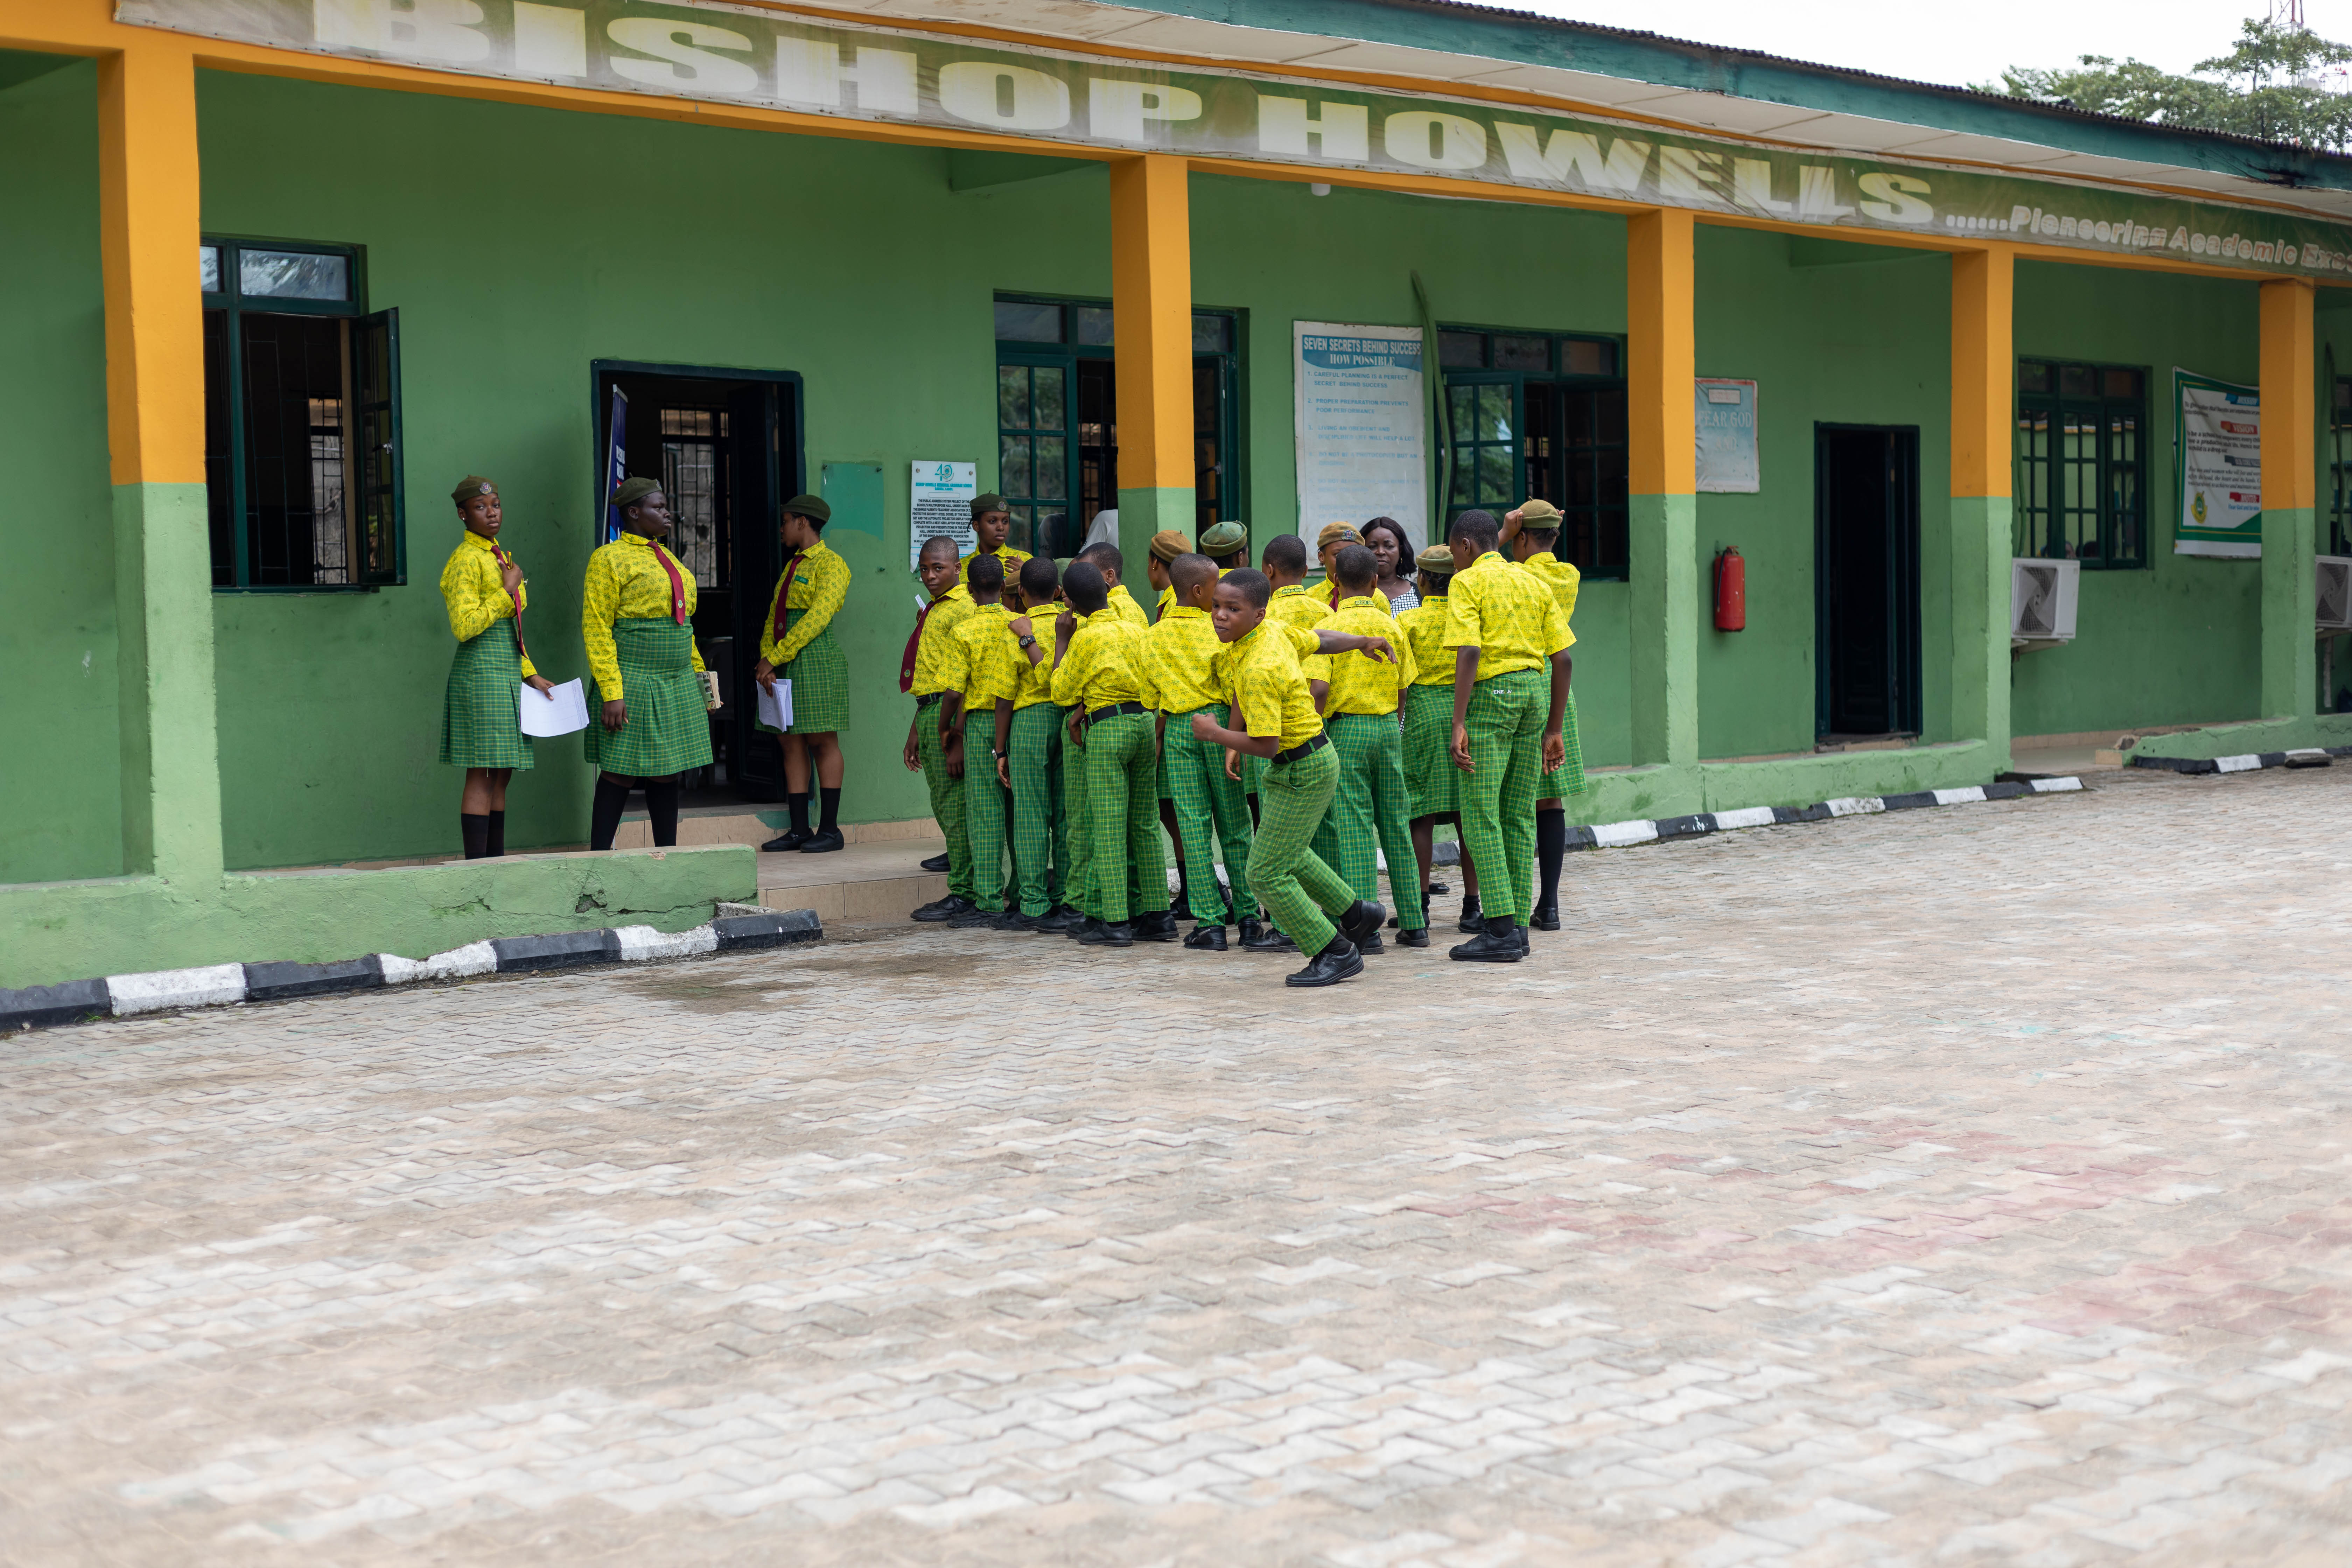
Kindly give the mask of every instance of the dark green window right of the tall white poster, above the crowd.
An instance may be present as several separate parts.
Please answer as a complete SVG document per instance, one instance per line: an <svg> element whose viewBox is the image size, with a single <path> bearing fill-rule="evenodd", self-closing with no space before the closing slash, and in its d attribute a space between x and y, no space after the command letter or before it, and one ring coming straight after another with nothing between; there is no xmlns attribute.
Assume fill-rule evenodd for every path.
<svg viewBox="0 0 2352 1568"><path fill-rule="evenodd" d="M1555 552L1583 576L1628 574L1625 343L1592 331L1439 327L1446 531L1470 508L1559 508Z"/></svg>

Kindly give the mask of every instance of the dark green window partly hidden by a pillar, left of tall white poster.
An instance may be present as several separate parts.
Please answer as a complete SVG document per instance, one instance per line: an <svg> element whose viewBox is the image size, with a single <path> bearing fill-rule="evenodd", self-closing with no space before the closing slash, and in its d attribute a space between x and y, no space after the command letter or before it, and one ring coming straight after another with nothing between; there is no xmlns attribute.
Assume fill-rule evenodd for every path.
<svg viewBox="0 0 2352 1568"><path fill-rule="evenodd" d="M1120 503L1110 301L997 294L997 489L1011 543L1068 557ZM1242 313L1192 310L1195 531L1240 517Z"/></svg>

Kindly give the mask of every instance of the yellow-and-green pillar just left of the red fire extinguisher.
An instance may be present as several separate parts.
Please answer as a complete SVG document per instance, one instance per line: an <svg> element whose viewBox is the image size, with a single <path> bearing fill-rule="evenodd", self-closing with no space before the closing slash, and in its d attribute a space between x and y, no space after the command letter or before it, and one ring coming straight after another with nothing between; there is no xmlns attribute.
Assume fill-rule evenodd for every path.
<svg viewBox="0 0 2352 1568"><path fill-rule="evenodd" d="M1698 762L1698 376L1689 212L1625 221L1632 759ZM1696 806L1693 806L1696 809Z"/></svg>

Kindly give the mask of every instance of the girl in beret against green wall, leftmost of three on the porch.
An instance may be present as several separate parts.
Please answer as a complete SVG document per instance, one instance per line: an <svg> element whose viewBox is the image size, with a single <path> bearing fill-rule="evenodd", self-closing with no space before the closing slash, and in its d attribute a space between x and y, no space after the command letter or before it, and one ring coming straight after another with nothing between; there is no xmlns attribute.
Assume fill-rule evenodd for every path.
<svg viewBox="0 0 2352 1568"><path fill-rule="evenodd" d="M442 602L456 635L449 686L442 693L442 764L466 769L459 830L466 858L506 853L506 780L532 766L532 738L522 733L517 703L522 686L548 691L548 682L522 651L522 567L499 548L499 487L466 475L449 491L466 536L442 567Z"/></svg>

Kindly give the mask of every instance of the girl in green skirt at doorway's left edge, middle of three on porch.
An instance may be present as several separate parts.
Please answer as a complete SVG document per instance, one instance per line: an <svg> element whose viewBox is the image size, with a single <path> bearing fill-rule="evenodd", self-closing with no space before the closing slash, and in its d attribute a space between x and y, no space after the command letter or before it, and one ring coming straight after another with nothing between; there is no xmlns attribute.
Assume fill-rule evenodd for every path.
<svg viewBox="0 0 2352 1568"><path fill-rule="evenodd" d="M677 776L710 762L703 654L694 646L694 574L661 538L675 527L670 498L652 480L612 494L621 538L588 557L581 642L595 677L588 762L595 813L588 849L612 849L628 792L644 788L654 844L677 842ZM602 710L595 705L602 703Z"/></svg>

